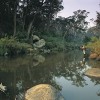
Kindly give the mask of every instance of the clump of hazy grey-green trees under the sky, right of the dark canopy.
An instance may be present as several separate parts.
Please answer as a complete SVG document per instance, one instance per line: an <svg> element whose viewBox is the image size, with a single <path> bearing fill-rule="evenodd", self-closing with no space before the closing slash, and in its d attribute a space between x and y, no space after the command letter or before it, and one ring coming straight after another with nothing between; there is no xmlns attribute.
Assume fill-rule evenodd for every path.
<svg viewBox="0 0 100 100"><path fill-rule="evenodd" d="M55 28L55 33L62 34L67 41L75 41L77 37L82 39L88 26L88 22L86 21L88 14L89 12L86 10L77 10L74 12L74 15L68 18L56 18L52 24Z"/></svg>

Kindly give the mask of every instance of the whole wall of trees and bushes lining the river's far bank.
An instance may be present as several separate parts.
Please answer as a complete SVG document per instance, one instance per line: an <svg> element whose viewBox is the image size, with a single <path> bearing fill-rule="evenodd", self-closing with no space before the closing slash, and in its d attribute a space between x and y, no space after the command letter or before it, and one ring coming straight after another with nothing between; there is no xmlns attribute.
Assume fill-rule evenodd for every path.
<svg viewBox="0 0 100 100"><path fill-rule="evenodd" d="M79 48L99 38L100 13L97 12L96 27L88 28L89 12L77 10L70 17L55 17L63 9L62 0L6 0L0 1L0 56L27 54L30 51L57 52ZM34 47L32 36L46 41L44 47ZM90 48L99 52L99 40ZM91 46L90 46L91 45Z"/></svg>

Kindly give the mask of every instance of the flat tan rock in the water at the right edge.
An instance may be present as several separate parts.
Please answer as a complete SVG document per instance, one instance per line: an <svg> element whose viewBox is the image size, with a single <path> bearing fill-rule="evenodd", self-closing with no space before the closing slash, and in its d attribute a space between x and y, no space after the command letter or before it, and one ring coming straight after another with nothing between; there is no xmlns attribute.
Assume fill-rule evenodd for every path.
<svg viewBox="0 0 100 100"><path fill-rule="evenodd" d="M91 68L85 72L85 75L90 77L100 78L100 68Z"/></svg>

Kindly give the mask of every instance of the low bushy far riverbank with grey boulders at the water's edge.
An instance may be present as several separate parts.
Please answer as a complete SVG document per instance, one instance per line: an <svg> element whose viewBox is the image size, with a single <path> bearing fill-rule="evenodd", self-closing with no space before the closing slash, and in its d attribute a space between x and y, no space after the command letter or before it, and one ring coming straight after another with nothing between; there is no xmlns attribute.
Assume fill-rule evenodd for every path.
<svg viewBox="0 0 100 100"><path fill-rule="evenodd" d="M60 36L42 36L40 38L37 35L33 35L31 42L21 42L13 37L4 37L0 39L0 56L16 56L34 54L36 52L58 53L77 49L79 45L74 42L67 42Z"/></svg>

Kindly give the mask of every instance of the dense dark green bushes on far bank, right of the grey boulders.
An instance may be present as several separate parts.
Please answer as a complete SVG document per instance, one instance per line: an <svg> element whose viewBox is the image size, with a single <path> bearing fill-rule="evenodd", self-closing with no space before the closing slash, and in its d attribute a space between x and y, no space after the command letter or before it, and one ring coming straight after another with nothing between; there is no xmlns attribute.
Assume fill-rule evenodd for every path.
<svg viewBox="0 0 100 100"><path fill-rule="evenodd" d="M43 36L43 38L46 40L45 49L50 49L53 52L72 50L80 46L80 44L75 42L67 42L66 39L59 36Z"/></svg>

